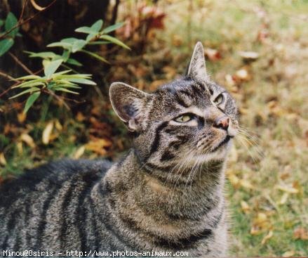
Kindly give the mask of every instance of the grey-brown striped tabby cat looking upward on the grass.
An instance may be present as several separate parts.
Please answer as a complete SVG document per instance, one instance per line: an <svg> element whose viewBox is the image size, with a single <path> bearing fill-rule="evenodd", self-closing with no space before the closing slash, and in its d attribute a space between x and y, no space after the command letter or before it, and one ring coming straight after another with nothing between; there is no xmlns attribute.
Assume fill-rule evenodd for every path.
<svg viewBox="0 0 308 258"><path fill-rule="evenodd" d="M238 112L208 77L201 42L182 79L152 93L114 82L109 96L133 148L114 164L60 160L2 184L0 250L227 255L224 169Z"/></svg>

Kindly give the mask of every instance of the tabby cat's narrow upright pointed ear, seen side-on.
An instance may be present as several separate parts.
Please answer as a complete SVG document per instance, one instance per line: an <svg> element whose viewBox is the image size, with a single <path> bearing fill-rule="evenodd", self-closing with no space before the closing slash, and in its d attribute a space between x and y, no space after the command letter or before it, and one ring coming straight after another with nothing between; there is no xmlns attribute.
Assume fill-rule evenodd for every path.
<svg viewBox="0 0 308 258"><path fill-rule="evenodd" d="M192 79L207 79L206 73L206 59L204 58L203 46L200 41L194 46L194 52L192 53L192 59L190 60L187 70L187 77Z"/></svg>

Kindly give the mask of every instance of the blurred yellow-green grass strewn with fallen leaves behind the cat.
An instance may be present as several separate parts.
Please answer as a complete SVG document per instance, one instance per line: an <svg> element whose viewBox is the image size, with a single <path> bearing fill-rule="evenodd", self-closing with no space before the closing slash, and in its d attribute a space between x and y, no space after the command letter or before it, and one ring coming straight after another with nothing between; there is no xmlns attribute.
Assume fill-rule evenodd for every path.
<svg viewBox="0 0 308 258"><path fill-rule="evenodd" d="M170 80L170 67L182 73L197 40L206 48L217 49L222 58L208 60L208 72L236 98L241 127L257 141L252 144L239 139L229 157L226 195L230 254L308 256L308 240L297 234L308 231L307 1L161 1L160 6L166 12L166 28L149 45L149 56L168 49L173 59L166 64L162 55L163 66L169 68L156 68L161 74L155 76L145 72L142 79ZM239 51L255 51L260 57L246 63ZM227 75L236 75L241 69L248 72L248 78L234 85L226 80ZM137 84L138 80L142 81L137 79ZM83 115L98 117L97 110L110 106L100 101L95 108ZM1 136L7 163L2 166L2 176L18 174L46 160L76 157L79 148L91 141L91 130L97 126L69 112L63 118L62 112L62 108L44 112L43 120L20 126L22 130L11 133L16 136L14 141ZM56 119L62 129L54 128L55 140L43 145L43 129ZM104 156L114 156L114 151L128 146L119 142L123 127L114 121L112 128L117 131L112 133L112 142L116 147L107 148ZM34 138L35 148L18 138L22 132ZM80 153L77 156L102 155L93 148Z"/></svg>

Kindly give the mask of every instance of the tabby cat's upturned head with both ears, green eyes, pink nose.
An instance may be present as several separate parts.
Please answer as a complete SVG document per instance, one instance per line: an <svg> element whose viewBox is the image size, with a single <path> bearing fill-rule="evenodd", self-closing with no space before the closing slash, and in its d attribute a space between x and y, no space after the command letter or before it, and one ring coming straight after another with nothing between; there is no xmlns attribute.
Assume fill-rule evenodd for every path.
<svg viewBox="0 0 308 258"><path fill-rule="evenodd" d="M150 167L224 160L236 135L235 101L208 78L201 42L182 79L152 93L114 82L109 95L116 114L134 132L135 153Z"/></svg>

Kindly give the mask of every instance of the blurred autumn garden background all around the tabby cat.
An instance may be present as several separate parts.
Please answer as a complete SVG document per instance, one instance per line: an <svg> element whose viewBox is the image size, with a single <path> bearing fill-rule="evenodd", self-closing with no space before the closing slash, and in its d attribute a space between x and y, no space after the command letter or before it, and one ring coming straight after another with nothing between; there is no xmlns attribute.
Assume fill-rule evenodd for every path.
<svg viewBox="0 0 308 258"><path fill-rule="evenodd" d="M116 160L130 140L109 84L154 91L202 41L243 128L227 166L230 255L308 256L307 0L6 0L0 19L0 183L62 157Z"/></svg>

